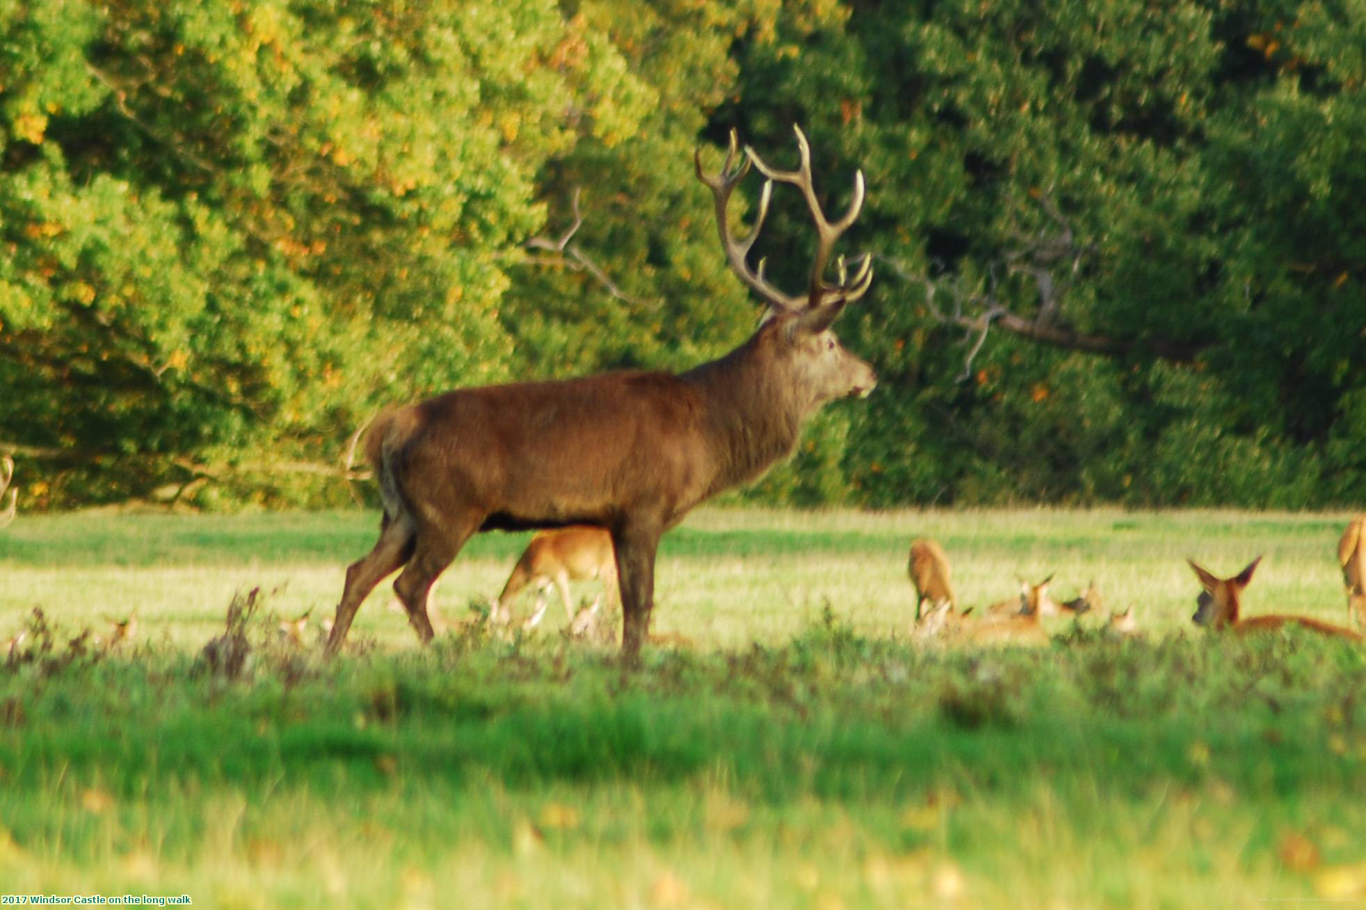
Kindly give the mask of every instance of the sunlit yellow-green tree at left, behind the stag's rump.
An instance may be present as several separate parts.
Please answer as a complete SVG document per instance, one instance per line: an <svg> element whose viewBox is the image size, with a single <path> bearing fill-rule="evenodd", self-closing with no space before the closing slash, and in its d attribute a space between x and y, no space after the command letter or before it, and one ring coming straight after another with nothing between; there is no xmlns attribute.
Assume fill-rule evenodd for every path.
<svg viewBox="0 0 1366 910"><path fill-rule="evenodd" d="M653 102L549 0L11 4L0 33L0 443L46 459L40 503L268 496L380 403L504 376L538 169Z"/></svg>

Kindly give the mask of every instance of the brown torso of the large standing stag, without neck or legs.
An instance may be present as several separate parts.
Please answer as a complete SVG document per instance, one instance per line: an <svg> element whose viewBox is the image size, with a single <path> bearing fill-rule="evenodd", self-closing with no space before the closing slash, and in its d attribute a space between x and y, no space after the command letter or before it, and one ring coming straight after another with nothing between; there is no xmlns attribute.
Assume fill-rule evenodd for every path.
<svg viewBox="0 0 1366 910"><path fill-rule="evenodd" d="M611 525L626 504L683 512L705 496L716 459L701 411L665 373L516 383L398 409L366 448L391 515L475 508L482 530Z"/></svg>

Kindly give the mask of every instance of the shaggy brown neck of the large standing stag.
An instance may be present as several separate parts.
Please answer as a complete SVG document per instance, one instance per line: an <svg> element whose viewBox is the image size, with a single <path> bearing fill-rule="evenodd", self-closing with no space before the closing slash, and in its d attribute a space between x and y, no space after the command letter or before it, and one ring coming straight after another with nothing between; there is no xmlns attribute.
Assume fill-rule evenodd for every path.
<svg viewBox="0 0 1366 910"><path fill-rule="evenodd" d="M705 425L717 456L708 495L751 481L792 454L807 403L775 372L757 335L679 378L694 384L705 402Z"/></svg>

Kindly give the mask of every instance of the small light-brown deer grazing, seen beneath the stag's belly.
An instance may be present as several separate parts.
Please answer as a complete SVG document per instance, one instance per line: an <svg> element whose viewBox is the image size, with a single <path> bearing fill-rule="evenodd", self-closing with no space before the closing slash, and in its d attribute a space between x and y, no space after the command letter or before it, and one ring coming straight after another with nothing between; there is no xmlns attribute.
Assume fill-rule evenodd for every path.
<svg viewBox="0 0 1366 910"><path fill-rule="evenodd" d="M617 603L616 555L612 552L612 536L601 527L571 525L556 530L545 530L531 538L522 557L512 567L508 583L493 601L489 619L505 623L510 619L508 604L523 588L535 582L535 611L523 623L534 629L545 615L545 592L555 585L564 600L564 615L574 623L574 601L570 600L570 579L602 581L604 593L611 603Z"/></svg>

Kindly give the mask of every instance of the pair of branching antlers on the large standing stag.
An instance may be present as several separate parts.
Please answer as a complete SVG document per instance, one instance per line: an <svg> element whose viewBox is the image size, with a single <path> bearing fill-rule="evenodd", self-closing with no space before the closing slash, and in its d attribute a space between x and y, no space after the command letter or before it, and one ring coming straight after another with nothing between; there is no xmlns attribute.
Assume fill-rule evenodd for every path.
<svg viewBox="0 0 1366 910"><path fill-rule="evenodd" d="M856 266L852 276L848 275L844 257L839 257L839 281L836 284L828 284L825 281L825 265L829 262L831 250L835 247L835 242L850 228L851 224L854 224L854 220L858 219L859 210L863 208L863 172L858 171L854 175L854 198L850 202L850 208L844 213L844 217L831 224L825 217L825 212L821 210L821 204L816 198L816 189L811 184L810 145L807 145L806 135L802 133L800 127L794 126L792 130L796 133L796 145L800 152L800 164L796 171L779 171L776 168L770 168L750 146L744 146L744 160L736 164L735 158L739 152L739 139L736 138L735 130L731 130L731 145L729 149L727 149L725 161L721 164L721 169L716 174L716 176L708 176L702 172L701 149L698 149L693 156L693 163L697 168L697 179L712 190L712 195L716 201L716 230L720 234L721 247L725 250L725 258L731 265L731 271L735 272L750 290L762 297L770 305L788 312L811 310L828 305L844 306L846 303L863 297L863 294L867 292L869 284L873 281L873 258L866 253L855 260ZM758 215L754 219L754 227L744 239L736 240L731 236L731 231L727 227L725 209L731 201L731 191L735 190L736 184L742 179L744 179L744 175L749 174L751 164L757 167L759 174L768 179L764 182L764 190L759 195L759 208ZM784 294L770 284L764 277L762 260L759 260L758 271L751 271L749 262L746 261L750 249L754 246L754 240L759 235L759 228L764 227L769 199L773 195L775 180L780 183L791 183L802 190L802 195L806 198L806 206L810 209L811 219L816 221L818 242L816 247L816 260L811 264L811 280L805 298Z"/></svg>

